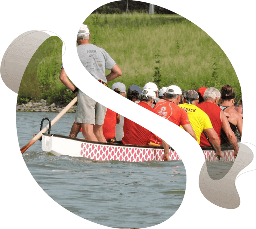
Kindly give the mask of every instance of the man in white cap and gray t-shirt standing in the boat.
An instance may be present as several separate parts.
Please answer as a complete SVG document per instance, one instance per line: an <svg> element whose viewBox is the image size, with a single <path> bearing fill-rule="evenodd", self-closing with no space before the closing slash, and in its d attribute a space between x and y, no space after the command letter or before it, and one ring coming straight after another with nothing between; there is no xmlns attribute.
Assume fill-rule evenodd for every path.
<svg viewBox="0 0 256 229"><path fill-rule="evenodd" d="M78 57L81 64L92 77L107 86L107 82L121 76L122 71L104 49L89 42L90 37L91 34L88 26L82 24L76 37L76 42L78 43L76 47ZM107 76L105 76L105 68L111 70L110 74ZM69 81L63 65L60 80L73 93L78 93L75 123L81 125L82 134L85 139L106 142L102 126L107 108L76 88Z"/></svg>

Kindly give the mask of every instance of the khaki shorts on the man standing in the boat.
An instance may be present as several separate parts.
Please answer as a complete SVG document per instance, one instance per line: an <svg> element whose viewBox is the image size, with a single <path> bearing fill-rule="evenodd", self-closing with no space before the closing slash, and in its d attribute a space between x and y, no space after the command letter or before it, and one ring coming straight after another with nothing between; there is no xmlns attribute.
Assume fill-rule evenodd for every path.
<svg viewBox="0 0 256 229"><path fill-rule="evenodd" d="M77 99L75 122L103 125L107 107L93 100L81 90L78 90Z"/></svg>

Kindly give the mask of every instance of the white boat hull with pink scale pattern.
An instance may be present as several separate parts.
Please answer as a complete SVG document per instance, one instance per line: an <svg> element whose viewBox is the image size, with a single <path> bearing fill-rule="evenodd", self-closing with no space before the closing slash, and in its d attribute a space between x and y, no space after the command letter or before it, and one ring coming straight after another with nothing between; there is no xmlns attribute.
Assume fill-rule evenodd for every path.
<svg viewBox="0 0 256 229"><path fill-rule="evenodd" d="M87 157L98 161L162 161L163 147L135 146L116 143L100 143L66 137L63 135L43 134L42 150L56 156L68 155L71 157ZM235 161L232 149L222 151L226 161ZM203 149L206 161L216 161L215 152L211 148ZM181 160L176 151L170 149L170 160Z"/></svg>

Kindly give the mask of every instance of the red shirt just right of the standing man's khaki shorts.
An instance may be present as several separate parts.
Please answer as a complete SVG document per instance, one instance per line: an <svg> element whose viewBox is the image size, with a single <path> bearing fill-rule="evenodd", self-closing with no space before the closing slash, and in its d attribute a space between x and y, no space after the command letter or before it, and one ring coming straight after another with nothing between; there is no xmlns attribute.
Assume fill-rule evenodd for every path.
<svg viewBox="0 0 256 229"><path fill-rule="evenodd" d="M116 137L116 117L118 113L107 108L103 124L103 135L105 139Z"/></svg>

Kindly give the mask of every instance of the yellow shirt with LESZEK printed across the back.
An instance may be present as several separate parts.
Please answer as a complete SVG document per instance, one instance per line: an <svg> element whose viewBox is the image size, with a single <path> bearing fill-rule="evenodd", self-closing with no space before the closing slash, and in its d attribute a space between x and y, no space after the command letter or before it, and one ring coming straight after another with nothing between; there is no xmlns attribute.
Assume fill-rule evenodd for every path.
<svg viewBox="0 0 256 229"><path fill-rule="evenodd" d="M213 128L209 116L199 107L184 103L178 105L181 108L186 108L189 122L195 132L197 143L200 144L200 137L204 129ZM180 126L182 128L182 126ZM183 129L183 128L182 128Z"/></svg>

